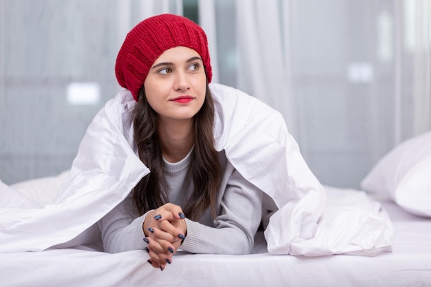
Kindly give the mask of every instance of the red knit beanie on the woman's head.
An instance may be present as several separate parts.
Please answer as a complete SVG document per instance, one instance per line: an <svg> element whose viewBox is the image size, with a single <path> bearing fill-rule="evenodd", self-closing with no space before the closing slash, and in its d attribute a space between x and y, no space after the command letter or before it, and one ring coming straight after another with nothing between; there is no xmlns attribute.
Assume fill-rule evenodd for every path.
<svg viewBox="0 0 431 287"><path fill-rule="evenodd" d="M178 46L189 47L198 52L210 83L212 71L207 35L193 21L174 14L161 14L145 19L127 34L115 65L118 83L132 92L137 101L139 90L144 85L151 65L165 50Z"/></svg>

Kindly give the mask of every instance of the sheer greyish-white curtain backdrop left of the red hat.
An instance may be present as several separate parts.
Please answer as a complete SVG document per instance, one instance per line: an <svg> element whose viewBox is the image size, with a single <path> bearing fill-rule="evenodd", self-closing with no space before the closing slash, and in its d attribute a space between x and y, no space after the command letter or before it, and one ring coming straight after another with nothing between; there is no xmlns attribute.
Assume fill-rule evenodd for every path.
<svg viewBox="0 0 431 287"><path fill-rule="evenodd" d="M154 14L182 14L185 2L0 0L0 180L69 169L120 90L114 65L127 32Z"/></svg>

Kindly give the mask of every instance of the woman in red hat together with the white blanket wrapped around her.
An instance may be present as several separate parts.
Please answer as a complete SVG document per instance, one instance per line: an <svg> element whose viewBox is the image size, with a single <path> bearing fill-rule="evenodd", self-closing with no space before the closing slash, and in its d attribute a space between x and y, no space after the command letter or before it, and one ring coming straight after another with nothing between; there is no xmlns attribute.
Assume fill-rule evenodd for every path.
<svg viewBox="0 0 431 287"><path fill-rule="evenodd" d="M39 206L3 187L1 252L100 251L102 240L112 253L145 250L163 270L178 249L250 253L261 219L271 254L391 248L390 222L370 213L376 204L349 210L341 200L342 212L333 205L319 222L326 194L284 119L238 89L209 84L198 25L170 14L139 23L116 76L125 90L94 117L54 202ZM366 224L366 234L349 222Z"/></svg>

